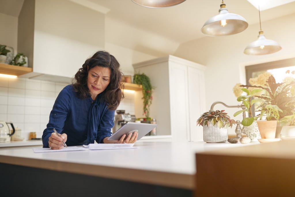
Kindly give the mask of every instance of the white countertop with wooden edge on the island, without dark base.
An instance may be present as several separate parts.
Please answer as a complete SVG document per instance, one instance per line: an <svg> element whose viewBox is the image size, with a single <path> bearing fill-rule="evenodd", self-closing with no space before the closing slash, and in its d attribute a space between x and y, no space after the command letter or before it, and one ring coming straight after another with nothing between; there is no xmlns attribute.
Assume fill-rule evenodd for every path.
<svg viewBox="0 0 295 197"><path fill-rule="evenodd" d="M0 150L0 162L192 189L196 152L254 144L138 141L137 149L52 153L11 149Z"/></svg>

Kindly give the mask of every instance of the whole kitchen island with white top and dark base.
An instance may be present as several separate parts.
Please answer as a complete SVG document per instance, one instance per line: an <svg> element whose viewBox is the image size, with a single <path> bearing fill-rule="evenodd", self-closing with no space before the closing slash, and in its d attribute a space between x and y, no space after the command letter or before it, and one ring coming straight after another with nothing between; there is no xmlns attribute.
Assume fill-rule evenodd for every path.
<svg viewBox="0 0 295 197"><path fill-rule="evenodd" d="M0 150L0 166L5 169L0 185L15 196L26 192L31 196L57 192L60 196L191 196L195 153L250 145L259 146L136 142L136 149L49 153ZM16 184L19 190L14 190Z"/></svg>

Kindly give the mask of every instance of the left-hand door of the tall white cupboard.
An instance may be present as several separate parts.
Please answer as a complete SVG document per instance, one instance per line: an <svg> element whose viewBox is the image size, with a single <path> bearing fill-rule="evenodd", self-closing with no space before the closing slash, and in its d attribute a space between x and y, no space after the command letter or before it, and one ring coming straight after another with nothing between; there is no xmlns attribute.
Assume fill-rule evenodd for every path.
<svg viewBox="0 0 295 197"><path fill-rule="evenodd" d="M172 141L189 141L187 66L169 62Z"/></svg>

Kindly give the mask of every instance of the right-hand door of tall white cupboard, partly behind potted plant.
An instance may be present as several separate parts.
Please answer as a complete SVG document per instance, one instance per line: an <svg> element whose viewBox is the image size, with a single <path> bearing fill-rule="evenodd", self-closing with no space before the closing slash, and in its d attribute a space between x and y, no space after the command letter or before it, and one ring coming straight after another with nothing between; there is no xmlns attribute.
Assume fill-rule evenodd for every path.
<svg viewBox="0 0 295 197"><path fill-rule="evenodd" d="M204 71L188 67L190 141L203 141L203 127L196 121L205 109Z"/></svg>

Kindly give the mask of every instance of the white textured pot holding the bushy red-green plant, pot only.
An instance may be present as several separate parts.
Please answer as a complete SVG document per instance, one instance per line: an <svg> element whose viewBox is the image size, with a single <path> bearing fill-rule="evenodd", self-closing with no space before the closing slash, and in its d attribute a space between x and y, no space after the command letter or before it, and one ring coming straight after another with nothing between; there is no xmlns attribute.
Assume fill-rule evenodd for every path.
<svg viewBox="0 0 295 197"><path fill-rule="evenodd" d="M219 128L217 124L213 126L211 122L208 126L203 126L203 140L207 143L222 143L228 138L227 128Z"/></svg>

